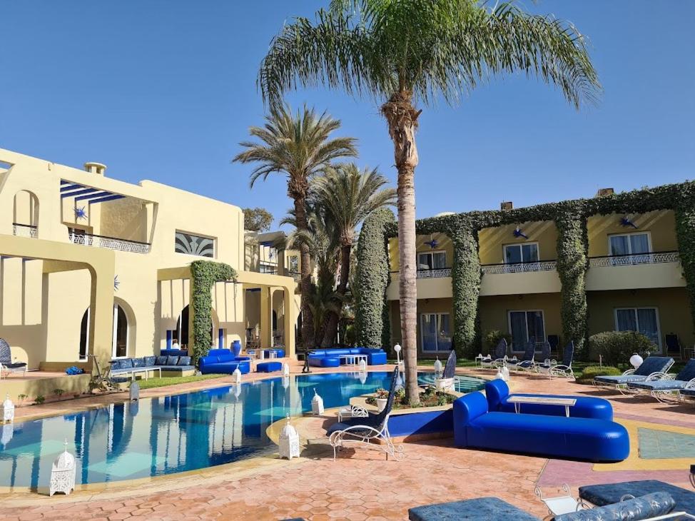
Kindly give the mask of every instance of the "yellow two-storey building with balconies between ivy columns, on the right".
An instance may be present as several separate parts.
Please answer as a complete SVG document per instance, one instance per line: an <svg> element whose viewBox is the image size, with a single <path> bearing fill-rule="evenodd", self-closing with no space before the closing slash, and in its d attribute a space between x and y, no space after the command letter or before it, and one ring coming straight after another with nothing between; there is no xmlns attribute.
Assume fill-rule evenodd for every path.
<svg viewBox="0 0 695 521"><path fill-rule="evenodd" d="M612 191L604 193L610 196ZM512 211L511 203L504 204L500 213ZM661 353L676 358L691 355L695 335L674 211L592 215L585 221L584 232L589 335L639 330ZM562 338L558 236L552 219L477 230L480 350L489 351L485 335L491 330L511 335L516 353L524 350L531 337L537 343L548 339L553 345L569 340ZM417 345L418 355L423 357L442 358L452 346L454 253L445 233L417 236ZM393 345L400 341L397 238L390 239L389 257L387 300ZM476 310L470 313L476 315Z"/></svg>

